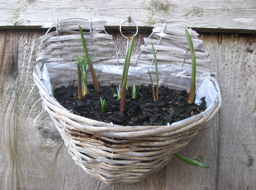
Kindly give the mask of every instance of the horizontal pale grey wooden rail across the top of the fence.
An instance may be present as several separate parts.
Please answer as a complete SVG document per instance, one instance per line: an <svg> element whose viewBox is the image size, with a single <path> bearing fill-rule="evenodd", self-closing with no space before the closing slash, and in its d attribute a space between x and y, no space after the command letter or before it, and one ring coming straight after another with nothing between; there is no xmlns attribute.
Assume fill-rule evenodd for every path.
<svg viewBox="0 0 256 190"><path fill-rule="evenodd" d="M61 9L60 9L61 7ZM128 13L138 26L170 22L190 28L256 33L256 3L249 1L42 1L9 0L0 4L0 26L35 27L57 19L107 20L107 26L120 26Z"/></svg>

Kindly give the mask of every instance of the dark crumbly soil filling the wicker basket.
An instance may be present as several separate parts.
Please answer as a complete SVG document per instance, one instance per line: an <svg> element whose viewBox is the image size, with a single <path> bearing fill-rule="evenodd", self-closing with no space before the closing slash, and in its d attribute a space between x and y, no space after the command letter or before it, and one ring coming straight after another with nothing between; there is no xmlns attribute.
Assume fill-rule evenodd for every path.
<svg viewBox="0 0 256 190"><path fill-rule="evenodd" d="M115 85L110 87L116 91ZM159 87L159 99L154 101L151 85L141 85L135 99L132 98L131 87L128 87L125 111L121 112L120 99L113 97L110 87L100 86L100 91L95 91L93 85L88 84L89 93L77 100L76 86L62 86L55 90L54 97L63 107L72 109L74 114L117 125L167 125L197 115L206 109L204 98L200 106L188 103L186 90ZM106 100L105 113L101 110L100 97Z"/></svg>

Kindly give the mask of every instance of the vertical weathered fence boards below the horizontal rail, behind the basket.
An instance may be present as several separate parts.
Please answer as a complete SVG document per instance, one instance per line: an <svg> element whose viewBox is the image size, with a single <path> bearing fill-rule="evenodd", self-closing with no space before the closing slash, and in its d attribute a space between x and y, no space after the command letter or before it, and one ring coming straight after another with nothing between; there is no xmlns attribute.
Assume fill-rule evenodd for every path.
<svg viewBox="0 0 256 190"><path fill-rule="evenodd" d="M114 35L124 56L126 41ZM134 53L143 37L138 35ZM87 175L67 153L32 80L41 30L0 30L1 189L255 189L255 35L205 33L222 87L219 115L180 154L196 158L201 169L173 158L162 170L135 184L108 186ZM139 43L140 42L140 43ZM231 90L231 91L230 91ZM232 101L236 99L236 101ZM238 109L235 109L238 107ZM220 118L220 119L219 119ZM220 136L220 148L219 148Z"/></svg>

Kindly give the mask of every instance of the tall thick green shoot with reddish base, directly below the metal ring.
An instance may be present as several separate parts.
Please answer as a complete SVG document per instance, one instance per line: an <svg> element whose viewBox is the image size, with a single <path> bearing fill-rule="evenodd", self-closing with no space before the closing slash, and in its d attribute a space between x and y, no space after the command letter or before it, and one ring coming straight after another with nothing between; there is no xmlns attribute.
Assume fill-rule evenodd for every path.
<svg viewBox="0 0 256 190"><path fill-rule="evenodd" d="M131 56L132 56L132 47L134 42L134 35L132 36L132 41L130 47L126 53L125 60L124 60L124 70L123 70L123 77L122 77L122 91L121 91L121 106L120 110L124 112L125 106L125 98L126 98L126 82L127 82L127 75L130 66Z"/></svg>

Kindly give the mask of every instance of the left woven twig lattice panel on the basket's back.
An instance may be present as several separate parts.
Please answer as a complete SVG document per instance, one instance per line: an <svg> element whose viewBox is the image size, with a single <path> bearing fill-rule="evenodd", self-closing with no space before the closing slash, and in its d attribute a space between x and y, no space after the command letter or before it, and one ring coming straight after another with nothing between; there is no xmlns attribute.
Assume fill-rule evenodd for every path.
<svg viewBox="0 0 256 190"><path fill-rule="evenodd" d="M76 57L76 53L84 53L78 24L85 31L84 38L89 53L96 53L94 62L118 57L116 43L112 41L112 36L108 35L104 28L106 21L72 19L43 26L43 28L55 27L56 31L48 33L50 28L45 36L40 37L40 53L36 60L74 64L73 58Z"/></svg>

